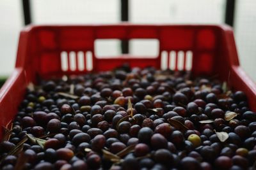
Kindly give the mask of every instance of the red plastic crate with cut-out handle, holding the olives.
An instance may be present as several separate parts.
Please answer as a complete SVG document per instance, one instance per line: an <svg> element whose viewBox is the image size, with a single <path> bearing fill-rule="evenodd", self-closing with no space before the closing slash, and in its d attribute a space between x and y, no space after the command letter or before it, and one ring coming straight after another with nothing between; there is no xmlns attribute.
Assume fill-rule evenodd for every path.
<svg viewBox="0 0 256 170"><path fill-rule="evenodd" d="M152 59L136 59L129 55L99 59L95 56L95 39L158 39L159 55ZM164 67L170 67L170 53L175 55L178 69L182 53L186 69L188 53L193 54L191 72L198 75L218 75L233 90L243 90L250 109L256 111L256 85L239 66L233 31L226 25L47 25L29 26L20 32L15 70L0 90L0 125L15 117L29 82L40 78L81 74L89 70L70 67L69 55L92 53L92 71L106 71L128 62L131 67L163 68L161 60L167 54ZM68 68L61 67L61 54L68 55ZM145 56L147 57L147 56ZM171 63L172 64L172 63ZM180 68L179 68L180 69ZM0 138L2 131L0 131Z"/></svg>

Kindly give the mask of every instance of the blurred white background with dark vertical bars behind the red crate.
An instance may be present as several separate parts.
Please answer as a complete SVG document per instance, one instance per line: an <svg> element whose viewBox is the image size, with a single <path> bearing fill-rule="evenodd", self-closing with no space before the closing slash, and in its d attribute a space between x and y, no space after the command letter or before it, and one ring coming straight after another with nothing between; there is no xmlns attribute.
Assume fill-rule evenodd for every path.
<svg viewBox="0 0 256 170"><path fill-rule="evenodd" d="M27 24L228 24L234 28L241 66L256 82L256 1L255 0L1 0L0 78L8 77L15 66L19 32ZM107 46L106 46L107 43ZM109 48L111 45L113 48ZM154 42L131 53L154 53ZM99 43L108 55L127 51L119 41ZM97 50L97 49L96 49ZM96 51L97 53L97 51Z"/></svg>

